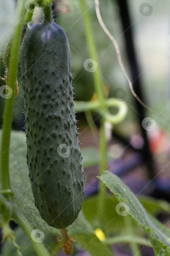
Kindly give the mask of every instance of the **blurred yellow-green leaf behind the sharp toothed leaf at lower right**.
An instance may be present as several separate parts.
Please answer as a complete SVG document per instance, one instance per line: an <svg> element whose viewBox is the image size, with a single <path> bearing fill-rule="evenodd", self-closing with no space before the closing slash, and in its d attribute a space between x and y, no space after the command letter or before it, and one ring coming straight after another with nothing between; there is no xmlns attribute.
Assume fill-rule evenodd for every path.
<svg viewBox="0 0 170 256"><path fill-rule="evenodd" d="M145 207L145 209L153 215L160 214L162 212L170 213L170 210L168 212L168 209L170 207L169 203L165 200L156 200L152 197L148 196L138 196L139 201L142 203L142 205ZM103 217L103 225L106 226L103 230L104 234L107 237L110 236L118 236L118 234L124 235L124 218L130 218L129 215L127 216L121 216L117 214L115 208L116 205L119 203L119 200L116 196L106 196L105 198L105 208L109 209L105 211L104 217ZM83 202L82 210L83 213L88 221L94 226L97 227L96 223L96 209L98 204L98 196L90 196ZM91 214L93 212L93 214ZM115 218L113 221L112 219ZM110 223L109 225L107 225ZM141 228L139 228L138 225L133 222L133 229L135 230L136 234L143 236L143 232L141 232Z"/></svg>

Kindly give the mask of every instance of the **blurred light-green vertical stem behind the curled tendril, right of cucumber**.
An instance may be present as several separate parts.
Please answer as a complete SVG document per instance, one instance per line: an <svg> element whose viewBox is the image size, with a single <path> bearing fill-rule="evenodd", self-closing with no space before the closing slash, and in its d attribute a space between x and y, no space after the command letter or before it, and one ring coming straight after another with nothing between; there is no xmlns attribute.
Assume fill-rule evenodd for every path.
<svg viewBox="0 0 170 256"><path fill-rule="evenodd" d="M99 61L98 61L98 56L96 52L96 47L95 47L95 40L94 40L94 35L91 29L91 20L90 20L90 15L88 13L85 0L80 0L80 6L82 9L83 13L83 19L84 19L84 27L85 27L85 34L86 34L86 40L88 44L88 49L90 52L90 57L95 60L98 63L98 67L95 72L93 72L94 76L94 85L95 85L95 91L98 96L98 99L101 103L101 107L103 112L106 110L106 107L104 105L104 92L102 88L102 80L100 77L100 66L99 66ZM99 176L102 175L103 171L106 170L106 148L107 148L107 141L106 141L106 136L105 136L105 120L102 116L101 117L101 123L100 123L100 170L99 170ZM100 191L99 191L99 200L98 200L98 209L97 209L97 214L98 214L98 221L99 225L102 225L102 220L104 216L104 196L105 196L105 191L106 187L105 185L100 182Z"/></svg>

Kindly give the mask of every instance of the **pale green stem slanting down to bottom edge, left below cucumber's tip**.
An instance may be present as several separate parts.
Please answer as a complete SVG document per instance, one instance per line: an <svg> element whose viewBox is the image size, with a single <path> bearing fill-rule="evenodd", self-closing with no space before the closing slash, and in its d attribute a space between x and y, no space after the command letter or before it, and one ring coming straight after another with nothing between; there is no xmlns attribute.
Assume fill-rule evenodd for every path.
<svg viewBox="0 0 170 256"><path fill-rule="evenodd" d="M19 207L16 207L13 215L12 215L14 221L19 224L19 226L23 229L24 233L29 238L30 243L32 244L33 248L35 249L37 255L39 256L50 256L50 253L45 248L44 244L41 242L35 242L31 238L31 232L33 231L33 228L30 226L29 221L23 214L23 212L19 209Z"/></svg>

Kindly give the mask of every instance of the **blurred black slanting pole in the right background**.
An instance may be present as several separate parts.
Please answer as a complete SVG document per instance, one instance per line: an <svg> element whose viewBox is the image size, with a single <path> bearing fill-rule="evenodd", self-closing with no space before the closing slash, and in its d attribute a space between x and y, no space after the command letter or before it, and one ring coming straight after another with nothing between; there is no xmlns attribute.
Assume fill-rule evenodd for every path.
<svg viewBox="0 0 170 256"><path fill-rule="evenodd" d="M120 17L121 17L122 27L123 27L123 31L124 31L123 35L124 35L124 39L125 39L126 52L127 52L127 57L128 57L129 64L130 64L130 69L131 69L131 78L132 78L132 81L134 81L133 88L134 88L135 93L145 103L145 100L143 100L143 94L142 94L142 89L141 89L139 67L138 67L137 58L135 55L133 33L132 33L132 27L131 27L131 21L130 21L130 16L129 16L127 0L117 0L117 3L119 6L119 9L120 9ZM135 100L135 106L136 106L137 112L140 114L140 116L138 115L138 120L139 120L139 124L141 126L141 132L142 132L142 136L143 136L143 140L144 140L144 145L143 145L143 149L142 149L143 160L148 167L149 178L152 179L154 177L153 156L152 156L150 148L149 148L146 130L142 127L142 120L146 117L145 109L136 99L134 99L134 100Z"/></svg>

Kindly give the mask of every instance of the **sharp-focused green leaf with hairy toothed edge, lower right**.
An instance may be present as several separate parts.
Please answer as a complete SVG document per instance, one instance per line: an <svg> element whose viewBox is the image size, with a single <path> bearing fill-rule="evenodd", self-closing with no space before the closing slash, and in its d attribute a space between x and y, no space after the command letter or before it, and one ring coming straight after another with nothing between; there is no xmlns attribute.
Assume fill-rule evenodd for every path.
<svg viewBox="0 0 170 256"><path fill-rule="evenodd" d="M160 229L162 225L146 212L133 192L116 175L105 171L98 178L124 203L117 205L116 212L121 215L130 214L135 222L145 231L153 245L155 255L162 253L160 251L162 249L165 250L164 256L170 255L170 236L167 236L169 230L164 227L165 233L165 231L163 232ZM124 206L122 211L121 206Z"/></svg>

